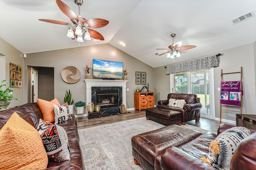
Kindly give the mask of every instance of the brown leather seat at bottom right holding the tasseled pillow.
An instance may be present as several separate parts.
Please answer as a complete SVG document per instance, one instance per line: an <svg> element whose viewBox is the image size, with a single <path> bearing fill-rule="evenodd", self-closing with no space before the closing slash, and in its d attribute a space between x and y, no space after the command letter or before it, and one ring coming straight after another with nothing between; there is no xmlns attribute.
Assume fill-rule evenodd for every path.
<svg viewBox="0 0 256 170"><path fill-rule="evenodd" d="M221 124L218 135L231 128L232 125ZM236 148L230 163L231 170L255 170L256 167L256 133L253 130ZM202 136L202 135L201 135ZM208 154L208 142L206 136L198 141L191 141L180 147L170 147L161 156L160 167L162 170L215 170L212 166L199 160ZM200 144L200 145L198 145ZM206 145L206 149L202 145Z"/></svg>

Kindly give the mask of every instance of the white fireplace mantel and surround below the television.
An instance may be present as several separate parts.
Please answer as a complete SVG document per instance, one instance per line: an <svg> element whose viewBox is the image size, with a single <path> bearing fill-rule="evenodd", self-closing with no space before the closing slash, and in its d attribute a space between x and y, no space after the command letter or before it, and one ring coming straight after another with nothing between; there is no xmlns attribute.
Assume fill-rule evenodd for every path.
<svg viewBox="0 0 256 170"><path fill-rule="evenodd" d="M122 104L126 106L126 83L128 80L84 80L86 83L86 103L92 102L92 87L122 87ZM88 111L86 107L86 115Z"/></svg>

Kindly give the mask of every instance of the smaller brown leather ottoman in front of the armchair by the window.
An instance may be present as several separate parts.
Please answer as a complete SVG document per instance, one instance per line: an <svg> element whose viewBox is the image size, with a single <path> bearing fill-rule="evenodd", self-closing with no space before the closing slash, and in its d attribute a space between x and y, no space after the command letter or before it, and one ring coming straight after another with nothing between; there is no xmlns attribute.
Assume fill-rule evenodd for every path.
<svg viewBox="0 0 256 170"><path fill-rule="evenodd" d="M163 109L160 107L151 107L146 109L146 118L163 125L182 123L182 114L179 111Z"/></svg>

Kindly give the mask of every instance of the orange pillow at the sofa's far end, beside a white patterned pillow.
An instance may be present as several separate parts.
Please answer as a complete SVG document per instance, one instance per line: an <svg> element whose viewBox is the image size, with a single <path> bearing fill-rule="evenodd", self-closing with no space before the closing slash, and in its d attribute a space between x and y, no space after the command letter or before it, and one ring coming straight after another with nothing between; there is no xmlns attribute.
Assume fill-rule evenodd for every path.
<svg viewBox="0 0 256 170"><path fill-rule="evenodd" d="M42 99L37 99L37 104L40 110L42 111L43 114L43 119L45 121L54 123L54 111L53 111L53 104L56 104L57 106L60 106L60 103L58 100L55 98L52 101L46 101Z"/></svg>

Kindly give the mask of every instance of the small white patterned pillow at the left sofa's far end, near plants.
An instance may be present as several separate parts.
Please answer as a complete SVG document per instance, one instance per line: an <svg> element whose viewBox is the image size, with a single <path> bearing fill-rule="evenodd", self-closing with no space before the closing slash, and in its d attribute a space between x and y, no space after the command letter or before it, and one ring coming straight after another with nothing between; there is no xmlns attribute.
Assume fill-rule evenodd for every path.
<svg viewBox="0 0 256 170"><path fill-rule="evenodd" d="M68 119L71 119L68 110L68 103L64 103L62 106L53 104L55 124L62 123Z"/></svg>

